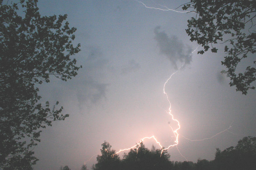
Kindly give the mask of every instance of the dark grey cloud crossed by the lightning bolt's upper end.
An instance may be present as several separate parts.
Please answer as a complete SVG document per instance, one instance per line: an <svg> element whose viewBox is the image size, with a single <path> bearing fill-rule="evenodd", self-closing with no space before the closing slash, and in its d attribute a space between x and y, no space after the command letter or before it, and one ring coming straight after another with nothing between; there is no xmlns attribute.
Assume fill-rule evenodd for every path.
<svg viewBox="0 0 256 170"><path fill-rule="evenodd" d="M192 49L189 46L185 46L176 35L168 37L164 31L159 32L159 29L160 26L154 29L154 38L161 54L164 54L172 62L175 69L177 69L178 62L189 64L192 60Z"/></svg>

